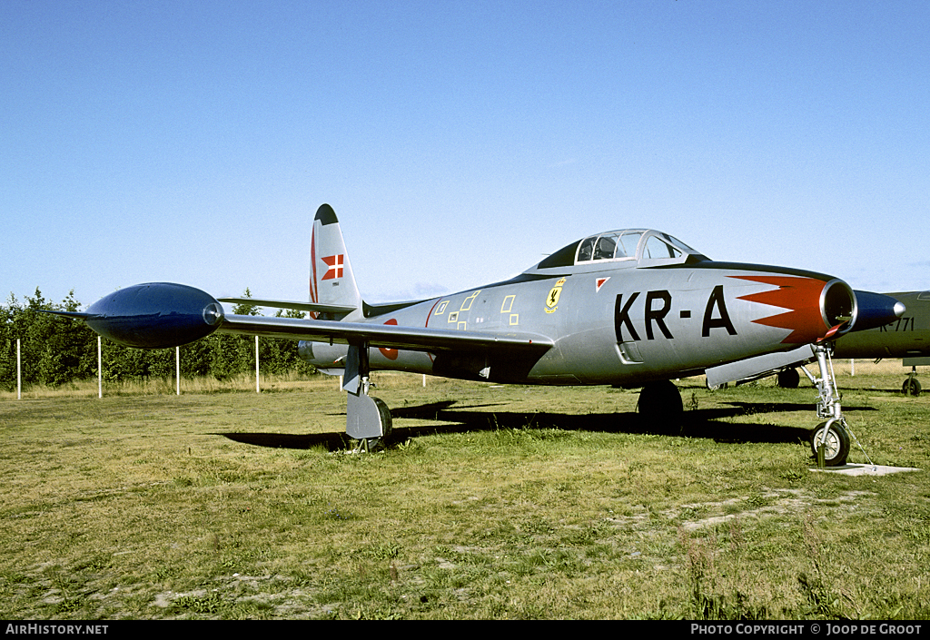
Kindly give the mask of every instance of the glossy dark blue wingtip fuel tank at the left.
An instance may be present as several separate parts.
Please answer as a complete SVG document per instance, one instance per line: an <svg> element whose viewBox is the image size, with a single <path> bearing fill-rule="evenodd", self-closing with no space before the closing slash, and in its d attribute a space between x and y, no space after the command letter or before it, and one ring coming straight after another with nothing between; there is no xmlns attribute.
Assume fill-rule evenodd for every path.
<svg viewBox="0 0 930 640"><path fill-rule="evenodd" d="M164 349L200 340L223 321L223 308L206 291L155 282L126 287L87 309L87 326L107 340L139 349Z"/></svg>

